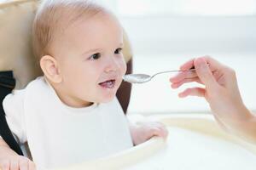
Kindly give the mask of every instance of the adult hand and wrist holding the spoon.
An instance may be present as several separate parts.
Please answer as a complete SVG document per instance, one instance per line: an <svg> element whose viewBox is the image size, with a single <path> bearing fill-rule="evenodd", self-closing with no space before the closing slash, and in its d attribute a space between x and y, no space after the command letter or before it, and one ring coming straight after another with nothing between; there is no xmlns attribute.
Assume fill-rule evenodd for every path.
<svg viewBox="0 0 256 170"><path fill-rule="evenodd" d="M204 97L207 99L217 122L222 127L239 135L250 133L247 137L251 138L251 133L256 132L256 118L242 102L237 86L236 72L210 57L191 59L180 69L189 70L193 67L195 67L195 71L184 71L172 77L170 79L172 88L179 88L188 82L198 82L205 87L187 88L178 94L179 97ZM256 140L255 134L253 136Z"/></svg>

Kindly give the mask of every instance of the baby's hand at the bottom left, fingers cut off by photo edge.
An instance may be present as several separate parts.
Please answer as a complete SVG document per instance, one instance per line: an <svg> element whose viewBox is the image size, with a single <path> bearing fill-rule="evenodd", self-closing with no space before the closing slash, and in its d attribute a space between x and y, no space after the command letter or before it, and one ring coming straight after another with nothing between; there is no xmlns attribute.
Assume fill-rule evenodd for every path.
<svg viewBox="0 0 256 170"><path fill-rule="evenodd" d="M10 156L0 159L1 170L36 170L36 165L25 156Z"/></svg>

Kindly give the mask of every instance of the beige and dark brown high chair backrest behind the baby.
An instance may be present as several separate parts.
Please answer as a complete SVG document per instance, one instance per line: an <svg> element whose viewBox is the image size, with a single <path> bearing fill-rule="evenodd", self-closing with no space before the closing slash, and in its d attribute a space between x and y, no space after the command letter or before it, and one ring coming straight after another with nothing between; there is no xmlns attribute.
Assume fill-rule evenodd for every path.
<svg viewBox="0 0 256 170"><path fill-rule="evenodd" d="M0 71L1 74L5 74L4 71L13 71L16 89L24 88L28 82L42 75L32 54L32 21L37 7L38 0L10 0L7 3L0 3ZM132 53L126 34L124 41L126 73L131 73ZM117 97L125 112L129 105L130 94L131 84L122 82ZM3 114L1 117L5 119ZM8 129L1 131L5 132L4 130Z"/></svg>

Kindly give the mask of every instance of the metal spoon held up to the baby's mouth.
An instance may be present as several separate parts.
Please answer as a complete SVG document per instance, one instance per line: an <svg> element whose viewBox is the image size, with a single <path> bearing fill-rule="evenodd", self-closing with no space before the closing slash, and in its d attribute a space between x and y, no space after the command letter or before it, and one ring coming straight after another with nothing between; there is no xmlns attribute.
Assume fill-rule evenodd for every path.
<svg viewBox="0 0 256 170"><path fill-rule="evenodd" d="M187 71L195 71L195 67ZM156 75L167 73L167 72L183 72L183 71L161 71L161 72L155 73L153 76L149 76L147 74L127 74L123 77L123 80L125 82L130 82L130 83L144 83L144 82L149 82Z"/></svg>

